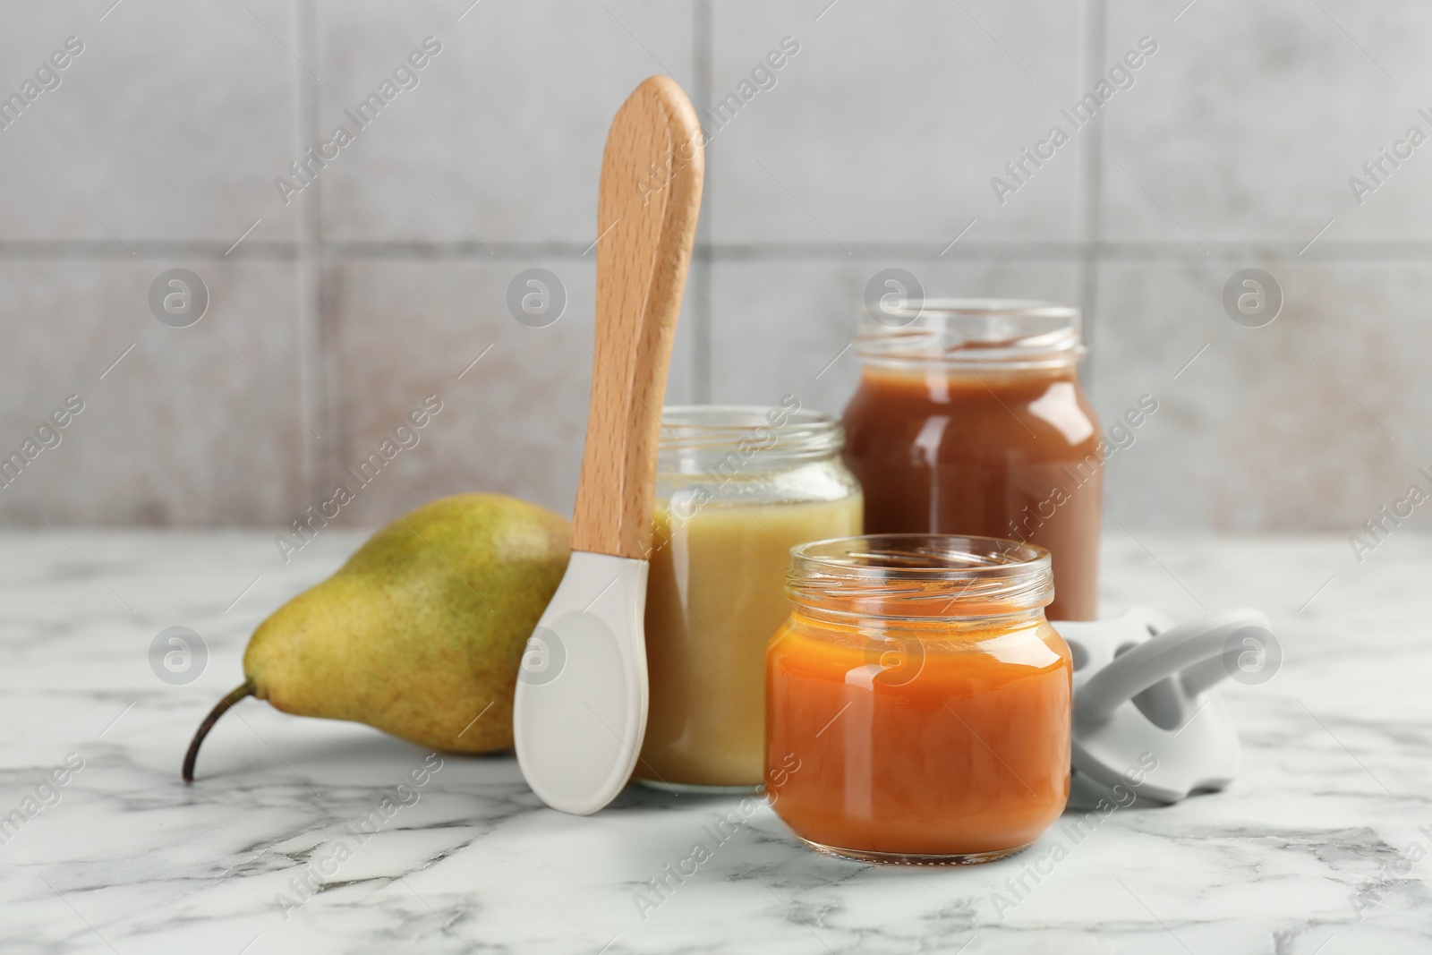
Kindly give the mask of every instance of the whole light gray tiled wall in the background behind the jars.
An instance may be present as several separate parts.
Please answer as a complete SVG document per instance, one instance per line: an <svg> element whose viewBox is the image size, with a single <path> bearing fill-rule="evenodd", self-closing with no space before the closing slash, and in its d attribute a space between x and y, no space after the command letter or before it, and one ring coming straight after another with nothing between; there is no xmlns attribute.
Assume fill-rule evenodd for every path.
<svg viewBox="0 0 1432 955"><path fill-rule="evenodd" d="M1160 402L1110 462L1128 527L1346 533L1432 464L1432 145L1360 205L1348 182L1408 127L1432 135L1418 4L86 0L0 19L0 94L83 43L0 129L0 451L84 402L0 491L4 523L285 524L430 394L442 411L344 521L467 488L569 513L606 126L650 73L709 107L785 37L775 86L707 122L669 401L839 411L865 282L898 265L931 294L1085 308L1101 414ZM285 205L275 178L430 36L417 86ZM1074 129L1060 110L1143 37L1133 84ZM991 178L1055 123L1070 140L998 202ZM533 266L569 296L546 328L505 305ZM1244 266L1282 283L1266 328L1224 314ZM170 268L209 291L189 328L150 312Z"/></svg>

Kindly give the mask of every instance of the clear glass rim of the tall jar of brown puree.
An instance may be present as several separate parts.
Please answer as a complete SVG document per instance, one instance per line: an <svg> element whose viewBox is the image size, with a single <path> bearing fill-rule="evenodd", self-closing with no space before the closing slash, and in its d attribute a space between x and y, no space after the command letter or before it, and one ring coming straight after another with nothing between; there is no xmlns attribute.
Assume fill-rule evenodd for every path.
<svg viewBox="0 0 1432 955"><path fill-rule="evenodd" d="M855 339L866 364L1058 368L1087 351L1083 312L1058 302L931 298L878 312L866 311Z"/></svg>

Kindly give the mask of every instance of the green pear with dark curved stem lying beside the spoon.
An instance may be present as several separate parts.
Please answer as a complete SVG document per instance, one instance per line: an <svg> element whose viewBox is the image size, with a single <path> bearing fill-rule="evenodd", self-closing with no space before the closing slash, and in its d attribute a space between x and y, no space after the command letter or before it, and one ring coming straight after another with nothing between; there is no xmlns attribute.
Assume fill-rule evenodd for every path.
<svg viewBox="0 0 1432 955"><path fill-rule="evenodd" d="M215 720L245 696L424 747L507 749L523 647L569 544L567 521L503 494L457 494L400 517L259 624L243 684L195 733L185 782Z"/></svg>

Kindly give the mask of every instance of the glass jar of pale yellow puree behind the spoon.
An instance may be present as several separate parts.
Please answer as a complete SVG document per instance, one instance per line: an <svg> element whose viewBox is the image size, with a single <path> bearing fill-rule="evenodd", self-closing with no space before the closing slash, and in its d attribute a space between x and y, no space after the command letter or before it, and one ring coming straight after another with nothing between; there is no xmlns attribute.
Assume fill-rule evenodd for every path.
<svg viewBox="0 0 1432 955"><path fill-rule="evenodd" d="M646 596L650 710L636 776L753 790L765 772L766 641L790 613L790 548L861 533L835 418L778 407L662 414Z"/></svg>

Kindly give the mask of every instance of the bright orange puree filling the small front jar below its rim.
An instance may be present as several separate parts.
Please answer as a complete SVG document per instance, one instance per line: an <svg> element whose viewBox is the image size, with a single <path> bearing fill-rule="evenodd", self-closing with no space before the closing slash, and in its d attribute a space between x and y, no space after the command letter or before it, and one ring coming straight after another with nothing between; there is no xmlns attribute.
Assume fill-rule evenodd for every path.
<svg viewBox="0 0 1432 955"><path fill-rule="evenodd" d="M1040 611L806 616L766 650L766 790L833 849L979 855L1034 842L1070 785L1073 667Z"/></svg>

